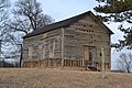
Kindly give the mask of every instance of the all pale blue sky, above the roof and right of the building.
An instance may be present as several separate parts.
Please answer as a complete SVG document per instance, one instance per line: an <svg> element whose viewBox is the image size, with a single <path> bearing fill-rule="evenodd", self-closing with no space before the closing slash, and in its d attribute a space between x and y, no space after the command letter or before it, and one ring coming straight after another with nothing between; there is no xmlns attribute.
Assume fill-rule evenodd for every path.
<svg viewBox="0 0 132 88"><path fill-rule="evenodd" d="M14 1L15 0L12 0L12 2ZM37 1L41 2L43 12L45 14L51 15L53 19L55 19L55 21L68 19L70 16L75 16L89 10L91 10L96 14L94 8L98 6L98 2L96 0L37 0ZM105 24L114 33L111 36L111 43L116 43L118 42L119 38L122 38L122 33L119 30L117 30L118 23L110 24L105 23ZM117 53L113 48L111 51L111 57L113 68L116 59L119 58L119 53Z"/></svg>

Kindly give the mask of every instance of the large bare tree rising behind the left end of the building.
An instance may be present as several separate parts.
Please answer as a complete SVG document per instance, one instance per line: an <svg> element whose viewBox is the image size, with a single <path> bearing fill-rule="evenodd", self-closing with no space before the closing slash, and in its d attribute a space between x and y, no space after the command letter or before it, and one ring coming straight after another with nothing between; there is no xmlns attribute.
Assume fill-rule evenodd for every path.
<svg viewBox="0 0 132 88"><path fill-rule="evenodd" d="M18 48L13 48L4 54L4 56L21 55L22 36L51 24L53 21L50 15L43 13L41 3L36 0L18 0L13 7L11 19L7 24L9 32L4 35L8 41L6 44ZM21 44L21 48L19 48L18 44ZM22 58L20 57L20 65L21 61Z"/></svg>

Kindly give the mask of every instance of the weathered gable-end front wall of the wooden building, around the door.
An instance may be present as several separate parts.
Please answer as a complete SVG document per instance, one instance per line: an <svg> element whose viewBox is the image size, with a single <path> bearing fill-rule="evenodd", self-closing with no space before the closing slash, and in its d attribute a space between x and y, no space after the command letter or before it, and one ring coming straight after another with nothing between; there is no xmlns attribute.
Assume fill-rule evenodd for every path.
<svg viewBox="0 0 132 88"><path fill-rule="evenodd" d="M105 47L106 63L110 65L110 34L90 16L65 28L65 57L85 57L85 48L92 48L92 63L101 64L101 47ZM101 65L100 65L101 66Z"/></svg>

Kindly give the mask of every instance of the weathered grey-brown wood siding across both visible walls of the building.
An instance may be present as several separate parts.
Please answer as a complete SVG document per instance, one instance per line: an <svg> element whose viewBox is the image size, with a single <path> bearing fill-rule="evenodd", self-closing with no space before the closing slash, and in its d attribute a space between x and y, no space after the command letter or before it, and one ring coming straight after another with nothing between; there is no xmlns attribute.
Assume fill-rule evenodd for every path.
<svg viewBox="0 0 132 88"><path fill-rule="evenodd" d="M82 18L69 26L24 38L23 44L23 62L62 58L64 45L64 59L84 58L86 64L98 68L101 68L101 47L105 47L106 66L110 68L110 33L91 16Z"/></svg>

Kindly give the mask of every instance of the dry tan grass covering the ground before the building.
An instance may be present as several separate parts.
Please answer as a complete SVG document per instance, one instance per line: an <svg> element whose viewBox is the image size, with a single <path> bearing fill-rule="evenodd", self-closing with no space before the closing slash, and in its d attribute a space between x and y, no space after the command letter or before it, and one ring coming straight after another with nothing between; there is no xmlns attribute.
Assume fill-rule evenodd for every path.
<svg viewBox="0 0 132 88"><path fill-rule="evenodd" d="M0 69L0 88L132 88L132 74L59 70L48 68Z"/></svg>

